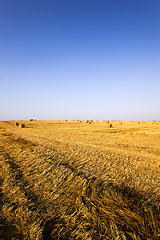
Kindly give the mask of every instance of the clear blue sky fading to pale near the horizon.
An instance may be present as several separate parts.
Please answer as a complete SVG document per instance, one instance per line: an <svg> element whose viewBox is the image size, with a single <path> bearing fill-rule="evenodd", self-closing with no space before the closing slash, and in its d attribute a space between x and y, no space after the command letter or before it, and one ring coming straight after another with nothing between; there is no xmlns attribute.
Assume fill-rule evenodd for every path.
<svg viewBox="0 0 160 240"><path fill-rule="evenodd" d="M0 120L160 120L159 0L0 0Z"/></svg>

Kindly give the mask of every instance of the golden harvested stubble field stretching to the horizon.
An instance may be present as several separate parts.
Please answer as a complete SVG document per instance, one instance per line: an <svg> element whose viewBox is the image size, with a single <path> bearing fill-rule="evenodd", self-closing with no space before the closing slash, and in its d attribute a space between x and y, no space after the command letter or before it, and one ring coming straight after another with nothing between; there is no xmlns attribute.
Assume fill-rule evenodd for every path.
<svg viewBox="0 0 160 240"><path fill-rule="evenodd" d="M23 123L0 122L0 239L160 239L160 122Z"/></svg>

